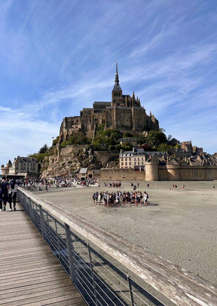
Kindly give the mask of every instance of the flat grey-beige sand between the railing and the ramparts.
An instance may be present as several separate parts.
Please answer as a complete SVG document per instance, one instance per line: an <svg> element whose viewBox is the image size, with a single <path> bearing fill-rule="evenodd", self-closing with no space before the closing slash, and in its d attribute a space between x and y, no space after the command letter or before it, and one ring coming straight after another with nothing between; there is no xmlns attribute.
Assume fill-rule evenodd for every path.
<svg viewBox="0 0 217 306"><path fill-rule="evenodd" d="M93 192L104 191L104 184L100 188L97 185L49 188L49 192L36 193L41 198L217 283L217 190L212 189L213 182L174 182L178 186L177 190L169 189L172 188L172 182L149 183L147 189L147 182L139 181L137 188L148 193L147 207L106 208L93 204ZM180 189L180 183L185 184L184 190ZM44 188L43 185L40 187ZM107 190L115 189L108 187ZM122 181L121 190L131 191L130 182Z"/></svg>

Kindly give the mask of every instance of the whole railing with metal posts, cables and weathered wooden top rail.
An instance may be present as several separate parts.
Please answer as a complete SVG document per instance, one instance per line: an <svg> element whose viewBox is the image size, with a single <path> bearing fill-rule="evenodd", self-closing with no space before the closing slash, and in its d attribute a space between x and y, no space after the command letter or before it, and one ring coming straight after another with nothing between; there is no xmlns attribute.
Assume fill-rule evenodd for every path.
<svg viewBox="0 0 217 306"><path fill-rule="evenodd" d="M203 280L195 285L195 277L190 281L186 278L186 282L192 284L192 288L189 288L188 284L183 284L183 275L189 274L182 272L181 275L184 269L180 268L174 274L169 270L175 270L175 266L171 265L166 267L171 274L164 275L166 263L163 259L158 258L162 262L158 263L157 271L154 265L151 267L151 263L134 258L133 251L141 257L139 247L133 245L135 250L130 251L126 242L123 244L123 241L114 240L113 233L106 236L105 231L93 223L22 188L18 188L17 197L89 306L216 305L213 285ZM142 269L142 265L145 265L145 269ZM130 270L134 278L128 275ZM175 275L174 279L172 275ZM168 285L164 285L165 280Z"/></svg>

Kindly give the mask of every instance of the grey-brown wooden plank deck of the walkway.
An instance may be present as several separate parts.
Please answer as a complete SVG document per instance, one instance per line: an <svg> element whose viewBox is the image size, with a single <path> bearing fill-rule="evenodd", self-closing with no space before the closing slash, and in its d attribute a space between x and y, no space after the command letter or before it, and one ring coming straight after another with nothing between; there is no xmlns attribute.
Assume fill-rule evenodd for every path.
<svg viewBox="0 0 217 306"><path fill-rule="evenodd" d="M0 212L0 305L86 306L23 210Z"/></svg>

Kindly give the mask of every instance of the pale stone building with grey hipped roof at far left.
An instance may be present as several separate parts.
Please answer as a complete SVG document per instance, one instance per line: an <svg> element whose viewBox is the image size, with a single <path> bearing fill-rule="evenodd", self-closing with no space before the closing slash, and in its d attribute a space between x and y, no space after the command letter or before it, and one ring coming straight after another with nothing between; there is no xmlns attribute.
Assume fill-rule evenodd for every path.
<svg viewBox="0 0 217 306"><path fill-rule="evenodd" d="M17 156L14 159L12 165L9 168L9 173L11 175L17 175L18 173L38 173L39 163L35 157L21 157Z"/></svg>

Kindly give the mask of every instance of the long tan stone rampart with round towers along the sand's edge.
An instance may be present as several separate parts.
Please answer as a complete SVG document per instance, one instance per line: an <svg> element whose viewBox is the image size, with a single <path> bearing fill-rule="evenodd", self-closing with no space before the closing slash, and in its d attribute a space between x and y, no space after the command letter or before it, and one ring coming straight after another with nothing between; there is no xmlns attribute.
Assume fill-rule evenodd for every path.
<svg viewBox="0 0 217 306"><path fill-rule="evenodd" d="M146 171L132 168L101 169L101 181L213 181L217 180L217 166L159 166L146 164Z"/></svg>

